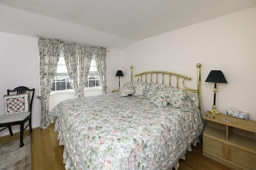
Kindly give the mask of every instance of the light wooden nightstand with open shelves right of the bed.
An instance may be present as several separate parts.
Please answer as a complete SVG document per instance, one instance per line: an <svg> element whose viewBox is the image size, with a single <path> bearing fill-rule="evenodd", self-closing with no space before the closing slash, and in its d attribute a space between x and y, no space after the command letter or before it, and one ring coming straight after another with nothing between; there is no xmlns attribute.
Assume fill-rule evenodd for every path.
<svg viewBox="0 0 256 170"><path fill-rule="evenodd" d="M206 117L212 115L214 118ZM230 119L230 122L223 121ZM256 169L256 123L228 115L203 116L203 154L234 169Z"/></svg>

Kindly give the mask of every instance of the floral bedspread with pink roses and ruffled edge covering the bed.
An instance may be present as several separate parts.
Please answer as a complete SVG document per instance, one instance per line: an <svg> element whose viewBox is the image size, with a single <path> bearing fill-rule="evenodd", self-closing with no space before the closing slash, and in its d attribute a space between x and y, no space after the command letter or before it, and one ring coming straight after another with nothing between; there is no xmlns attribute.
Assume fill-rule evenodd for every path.
<svg viewBox="0 0 256 170"><path fill-rule="evenodd" d="M170 169L203 130L200 111L156 107L119 92L64 100L52 109L66 169Z"/></svg>

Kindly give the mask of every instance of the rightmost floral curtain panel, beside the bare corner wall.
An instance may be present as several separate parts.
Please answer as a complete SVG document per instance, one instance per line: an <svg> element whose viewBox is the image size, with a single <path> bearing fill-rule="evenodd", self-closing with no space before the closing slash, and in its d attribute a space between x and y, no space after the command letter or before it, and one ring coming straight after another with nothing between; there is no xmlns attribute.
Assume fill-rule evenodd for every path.
<svg viewBox="0 0 256 170"><path fill-rule="evenodd" d="M102 94L107 93L107 84L106 84L106 54L107 54L107 49L106 48L98 48L96 49L96 56L95 56L95 61L96 61L96 66L98 70L98 74L100 76L100 82L101 82L101 87L102 87Z"/></svg>

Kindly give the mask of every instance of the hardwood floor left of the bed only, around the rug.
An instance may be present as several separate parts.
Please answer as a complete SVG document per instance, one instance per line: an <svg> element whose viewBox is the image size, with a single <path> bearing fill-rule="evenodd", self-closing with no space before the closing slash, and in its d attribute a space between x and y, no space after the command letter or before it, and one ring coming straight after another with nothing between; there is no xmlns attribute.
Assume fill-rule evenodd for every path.
<svg viewBox="0 0 256 170"><path fill-rule="evenodd" d="M48 129L35 128L32 133L24 131L24 136L31 136L32 170L65 170L63 164L64 146L59 145L58 133L54 132L54 124ZM13 136L0 137L0 143L20 139L20 133Z"/></svg>

